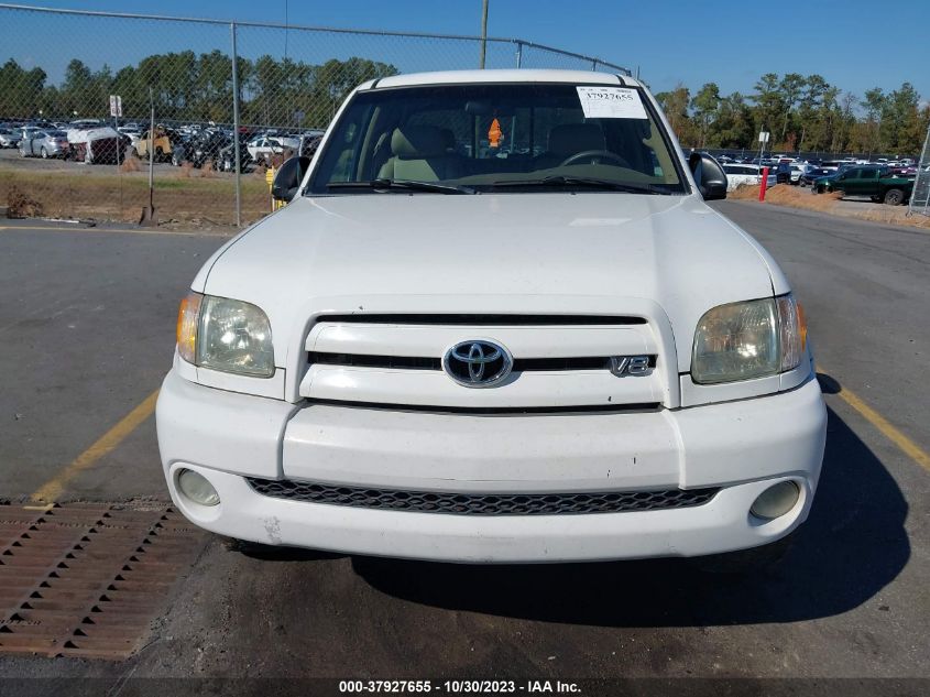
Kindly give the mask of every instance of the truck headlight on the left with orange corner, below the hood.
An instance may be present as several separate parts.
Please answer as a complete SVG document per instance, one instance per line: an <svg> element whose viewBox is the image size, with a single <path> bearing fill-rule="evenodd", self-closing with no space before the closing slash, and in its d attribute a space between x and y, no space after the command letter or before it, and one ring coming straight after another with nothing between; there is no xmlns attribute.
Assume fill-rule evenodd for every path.
<svg viewBox="0 0 930 697"><path fill-rule="evenodd" d="M178 312L177 352L204 368L256 378L274 374L269 318L242 301L190 293Z"/></svg>

